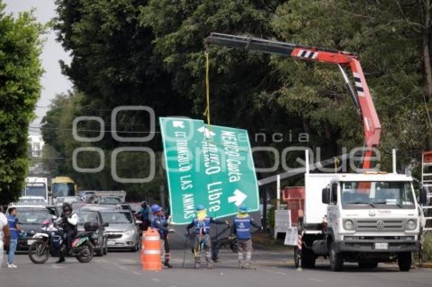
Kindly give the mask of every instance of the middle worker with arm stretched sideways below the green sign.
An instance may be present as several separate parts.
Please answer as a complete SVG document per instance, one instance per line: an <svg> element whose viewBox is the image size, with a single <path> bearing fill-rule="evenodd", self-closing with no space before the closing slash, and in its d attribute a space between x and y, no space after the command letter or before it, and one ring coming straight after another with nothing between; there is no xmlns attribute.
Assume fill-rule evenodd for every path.
<svg viewBox="0 0 432 287"><path fill-rule="evenodd" d="M211 264L211 239L210 239L210 225L211 224L225 224L229 227L228 221L222 221L213 219L207 216L204 205L197 205L197 215L194 220L186 227L191 229L195 228L195 244L194 244L194 255L195 255L195 269L199 269L201 265L201 252L205 251L205 261L207 262L207 268L213 268Z"/></svg>

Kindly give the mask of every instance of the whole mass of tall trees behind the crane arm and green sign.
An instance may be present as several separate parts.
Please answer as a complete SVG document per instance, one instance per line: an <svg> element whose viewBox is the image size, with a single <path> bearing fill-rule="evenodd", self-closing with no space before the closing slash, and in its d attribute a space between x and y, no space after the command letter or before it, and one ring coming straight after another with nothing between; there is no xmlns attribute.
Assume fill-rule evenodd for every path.
<svg viewBox="0 0 432 287"><path fill-rule="evenodd" d="M203 118L204 39L210 32L251 34L358 53L383 125L383 169L388 167L391 148L398 148L401 163L410 166L422 149L432 148L428 0L56 3L58 40L73 57L70 65L62 64L63 71L82 93L75 117L97 115L109 123L116 106L148 105L156 116ZM208 47L207 51L212 124L246 128L252 145L279 152L287 146L305 145L289 137L300 132L310 135L306 145L321 147L325 158L342 152L343 147L363 145L361 120L336 66L238 49ZM147 118L139 113L121 114L117 120L126 134L148 129ZM49 123L59 124L47 117ZM81 127L91 129L94 124ZM261 132L267 140L255 136ZM269 139L275 132L283 134L281 141ZM46 139L57 152L65 153L65 167L70 168L68 146L74 144L66 138L50 138L48 132ZM160 141L157 134L139 145L160 152ZM97 145L109 154L116 147L137 144L105 136ZM254 156L257 167L269 167L274 160L271 154ZM295 158L289 154L288 165ZM135 168L137 163L130 166ZM86 176L90 175L80 175ZM101 179L109 182L109 175L91 176L89 182L95 185L103 185Z"/></svg>

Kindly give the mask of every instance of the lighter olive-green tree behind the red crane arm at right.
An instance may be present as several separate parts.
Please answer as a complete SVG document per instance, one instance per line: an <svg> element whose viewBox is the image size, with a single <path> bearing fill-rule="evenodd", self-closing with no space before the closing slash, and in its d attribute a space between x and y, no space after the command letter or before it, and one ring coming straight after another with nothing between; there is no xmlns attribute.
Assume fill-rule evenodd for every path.
<svg viewBox="0 0 432 287"><path fill-rule="evenodd" d="M422 24L418 12L426 15L432 8L421 10L422 3L316 0L304 5L292 0L277 9L272 22L286 41L359 54L383 127L384 169L390 166L392 148L399 149L405 165L418 161L431 131L430 104L423 100L428 83L423 36L430 35L430 25ZM335 66L292 59L273 64L284 73L280 100L288 109L301 111L313 126L328 122L332 134L340 134L331 139L339 149L361 144L362 125Z"/></svg>

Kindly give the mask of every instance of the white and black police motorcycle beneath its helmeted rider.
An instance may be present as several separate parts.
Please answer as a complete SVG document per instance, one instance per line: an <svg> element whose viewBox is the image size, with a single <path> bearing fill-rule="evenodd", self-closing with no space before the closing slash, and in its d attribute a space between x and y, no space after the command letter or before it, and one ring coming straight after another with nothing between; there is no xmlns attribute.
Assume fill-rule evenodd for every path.
<svg viewBox="0 0 432 287"><path fill-rule="evenodd" d="M30 244L28 249L28 257L35 264L43 264L49 256L59 257L60 252L65 254L66 246L63 244L63 228L55 223L57 217L52 218L53 221L44 221L40 233L36 233L33 239L36 240ZM94 256L95 242L92 239L92 234L98 230L98 224L94 222L84 223L83 233L78 233L72 241L72 256L81 263L88 263Z"/></svg>

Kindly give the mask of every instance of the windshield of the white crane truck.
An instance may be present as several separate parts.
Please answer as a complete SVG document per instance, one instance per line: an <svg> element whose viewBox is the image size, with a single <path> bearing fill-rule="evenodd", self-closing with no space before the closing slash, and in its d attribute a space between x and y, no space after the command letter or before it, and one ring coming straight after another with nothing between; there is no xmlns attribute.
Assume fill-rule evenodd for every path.
<svg viewBox="0 0 432 287"><path fill-rule="evenodd" d="M415 208L410 182L342 182L342 206L353 208Z"/></svg>

